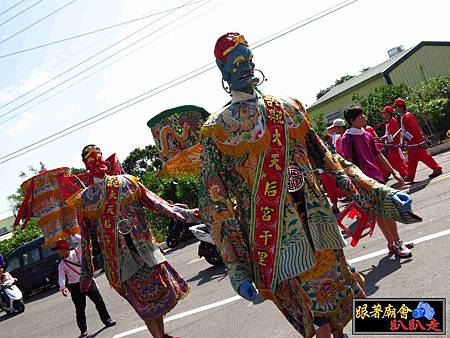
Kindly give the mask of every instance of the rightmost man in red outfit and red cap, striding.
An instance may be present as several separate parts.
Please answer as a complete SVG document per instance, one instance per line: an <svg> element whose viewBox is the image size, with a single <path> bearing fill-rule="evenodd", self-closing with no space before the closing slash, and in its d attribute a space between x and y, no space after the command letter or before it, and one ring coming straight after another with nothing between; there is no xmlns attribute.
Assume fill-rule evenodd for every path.
<svg viewBox="0 0 450 338"><path fill-rule="evenodd" d="M406 147L408 149L408 176L406 177L406 181L414 182L417 165L420 161L430 169L433 169L433 172L428 176L429 178L441 175L442 168L430 153L425 150L425 137L414 115L406 110L406 101L399 98L395 100L394 105L395 111L402 116L401 128L403 141L406 141Z"/></svg>

